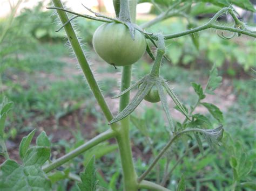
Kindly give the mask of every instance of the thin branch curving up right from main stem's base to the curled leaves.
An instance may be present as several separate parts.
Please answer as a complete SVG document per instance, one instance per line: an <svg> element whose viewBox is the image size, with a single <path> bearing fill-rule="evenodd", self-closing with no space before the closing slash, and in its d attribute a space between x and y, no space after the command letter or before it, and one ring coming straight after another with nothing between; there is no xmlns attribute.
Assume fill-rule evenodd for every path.
<svg viewBox="0 0 256 191"><path fill-rule="evenodd" d="M174 141L179 138L181 135L185 134L185 133L189 133L189 132L197 132L200 129L186 129L183 130L179 133L177 133L166 145L165 147L160 151L160 153L157 155L157 157L154 159L154 161L152 162L152 164L149 166L149 168L146 169L146 171L139 176L138 178L138 182L142 181L147 174L149 174L151 172L151 170L153 169L153 167L157 164L158 160L163 156L163 154L167 151L167 149L174 143Z"/></svg>

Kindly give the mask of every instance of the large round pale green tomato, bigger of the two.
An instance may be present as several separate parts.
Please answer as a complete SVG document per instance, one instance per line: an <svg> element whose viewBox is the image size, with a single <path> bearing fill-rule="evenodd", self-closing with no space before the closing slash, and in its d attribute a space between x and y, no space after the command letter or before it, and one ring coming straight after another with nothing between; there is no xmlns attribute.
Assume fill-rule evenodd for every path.
<svg viewBox="0 0 256 191"><path fill-rule="evenodd" d="M100 58L114 66L131 65L146 51L144 35L135 30L133 40L129 29L120 23L100 25L93 34L92 44Z"/></svg>

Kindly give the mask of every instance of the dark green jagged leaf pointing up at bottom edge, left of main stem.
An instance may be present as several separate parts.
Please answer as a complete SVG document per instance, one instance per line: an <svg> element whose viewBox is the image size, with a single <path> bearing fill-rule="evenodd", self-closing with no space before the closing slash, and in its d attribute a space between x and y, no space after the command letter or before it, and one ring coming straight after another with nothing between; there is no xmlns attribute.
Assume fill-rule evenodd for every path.
<svg viewBox="0 0 256 191"><path fill-rule="evenodd" d="M80 178L82 182L78 183L78 187L81 191L94 191L96 190L96 185L98 180L96 178L96 168L95 168L95 157L93 156L91 160L85 167L84 172L80 173Z"/></svg>

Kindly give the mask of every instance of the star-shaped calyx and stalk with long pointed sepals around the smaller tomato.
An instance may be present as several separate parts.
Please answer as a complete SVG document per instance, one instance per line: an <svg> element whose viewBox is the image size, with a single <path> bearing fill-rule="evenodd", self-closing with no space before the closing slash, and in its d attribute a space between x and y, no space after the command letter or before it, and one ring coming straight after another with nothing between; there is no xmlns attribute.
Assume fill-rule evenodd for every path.
<svg viewBox="0 0 256 191"><path fill-rule="evenodd" d="M183 107L181 102L178 100L178 97L173 93L173 90L168 86L167 82L159 75L161 60L163 58L165 52L164 47L164 39L163 36L159 35L159 43L158 43L158 51L156 55L156 59L154 60L154 64L150 74L145 75L141 80L134 83L131 87L127 88L126 90L120 92L118 95L114 96L113 98L118 98L128 91L132 90L135 87L138 87L138 91L136 95L132 98L132 101L126 106L126 108L120 112L116 117L114 117L109 124L116 123L126 116L130 115L131 112L134 111L142 102L143 99L152 102L161 101L165 114L167 116L171 131L174 132L174 125L172 122L172 117L169 111L169 106L167 104L166 96L169 95L173 102L177 105L179 111L186 116L188 120L190 120L186 109ZM150 97L150 91L154 90L154 95ZM159 98L158 98L159 97ZM152 98L152 100L150 99Z"/></svg>

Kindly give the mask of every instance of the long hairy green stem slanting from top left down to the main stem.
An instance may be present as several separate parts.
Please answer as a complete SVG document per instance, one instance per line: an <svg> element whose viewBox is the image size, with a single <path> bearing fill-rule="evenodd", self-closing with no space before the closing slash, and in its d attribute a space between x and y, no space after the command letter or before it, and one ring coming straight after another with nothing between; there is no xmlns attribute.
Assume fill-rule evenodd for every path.
<svg viewBox="0 0 256 191"><path fill-rule="evenodd" d="M57 8L63 9L63 4L60 0L52 0L52 2ZM62 22L62 24L65 24L66 22L68 22L69 18L68 18L68 15L66 14L66 12L57 10L57 13L59 15L59 18L60 18L60 21ZM70 45L71 45L73 51L75 52L76 58L79 62L79 65L82 68L83 73L86 77L86 80L92 90L92 93L95 95L95 98L96 98L100 108L102 109L107 121L111 121L111 119L113 118L112 113L111 113L107 103L105 102L102 92L100 91L99 86L93 76L93 73L91 71L89 63L86 60L84 51L83 51L82 47L80 46L79 40L76 36L75 31L73 30L71 23L66 24L64 26L64 29L65 29L65 32L69 39ZM117 124L113 124L113 125L111 125L111 127L116 128Z"/></svg>

